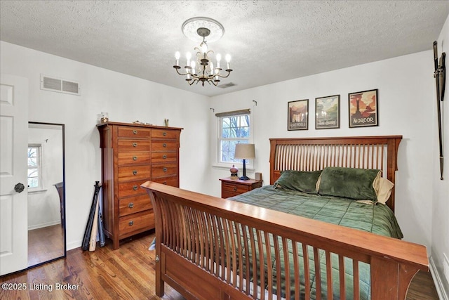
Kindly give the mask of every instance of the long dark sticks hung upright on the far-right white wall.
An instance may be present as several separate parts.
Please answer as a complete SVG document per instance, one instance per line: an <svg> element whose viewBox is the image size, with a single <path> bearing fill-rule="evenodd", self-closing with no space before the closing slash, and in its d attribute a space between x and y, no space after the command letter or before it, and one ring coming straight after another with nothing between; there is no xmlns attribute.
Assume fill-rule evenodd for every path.
<svg viewBox="0 0 449 300"><path fill-rule="evenodd" d="M440 150L440 179L443 180L443 167L444 167L444 157L443 157L443 134L441 128L441 102L444 98L445 93L445 56L443 52L441 54L440 63L438 64L438 47L437 42L434 41L434 77L436 83L436 114L438 117L438 143Z"/></svg>

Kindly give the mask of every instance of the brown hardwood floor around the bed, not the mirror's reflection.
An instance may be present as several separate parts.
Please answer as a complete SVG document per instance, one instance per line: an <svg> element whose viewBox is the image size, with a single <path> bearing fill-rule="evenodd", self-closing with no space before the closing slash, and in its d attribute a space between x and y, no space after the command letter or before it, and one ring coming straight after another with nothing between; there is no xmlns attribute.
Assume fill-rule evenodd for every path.
<svg viewBox="0 0 449 300"><path fill-rule="evenodd" d="M154 233L135 237L115 251L110 240L95 252L73 249L67 252L67 259L3 276L2 284L20 284L26 290L2 288L0 299L184 300L168 285L163 298L155 295L154 251L148 251L153 237ZM418 273L408 291L407 300L423 299L438 300L430 273Z"/></svg>

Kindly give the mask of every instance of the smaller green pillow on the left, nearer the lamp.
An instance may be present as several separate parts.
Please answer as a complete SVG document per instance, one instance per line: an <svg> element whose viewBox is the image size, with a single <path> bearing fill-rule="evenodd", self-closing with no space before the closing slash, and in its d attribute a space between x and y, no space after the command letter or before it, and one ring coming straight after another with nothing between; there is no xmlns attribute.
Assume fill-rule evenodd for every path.
<svg viewBox="0 0 449 300"><path fill-rule="evenodd" d="M320 175L321 171L282 171L281 176L274 183L273 187L316 194L316 181L318 181Z"/></svg>

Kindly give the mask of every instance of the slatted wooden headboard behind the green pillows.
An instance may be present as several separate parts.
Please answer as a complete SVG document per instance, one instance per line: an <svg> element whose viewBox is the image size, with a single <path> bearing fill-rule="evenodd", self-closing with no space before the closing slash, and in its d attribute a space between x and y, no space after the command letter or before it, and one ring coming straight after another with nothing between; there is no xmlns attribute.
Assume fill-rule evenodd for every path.
<svg viewBox="0 0 449 300"><path fill-rule="evenodd" d="M318 171L325 167L380 169L395 183L402 136L270 138L270 184L281 171ZM394 188L387 205L394 211Z"/></svg>

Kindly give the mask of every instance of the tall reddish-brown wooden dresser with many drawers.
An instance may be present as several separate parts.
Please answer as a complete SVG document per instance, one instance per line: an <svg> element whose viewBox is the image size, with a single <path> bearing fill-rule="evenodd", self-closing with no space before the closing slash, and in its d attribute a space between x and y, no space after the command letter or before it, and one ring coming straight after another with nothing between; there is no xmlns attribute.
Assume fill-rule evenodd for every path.
<svg viewBox="0 0 449 300"><path fill-rule="evenodd" d="M102 214L105 235L119 241L154 228L146 181L179 187L182 128L107 122L98 124L102 150Z"/></svg>

